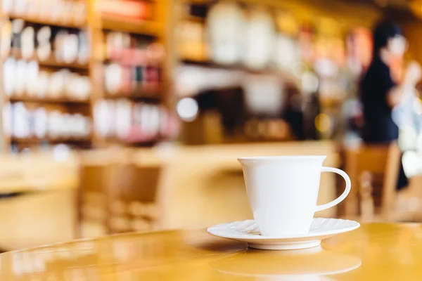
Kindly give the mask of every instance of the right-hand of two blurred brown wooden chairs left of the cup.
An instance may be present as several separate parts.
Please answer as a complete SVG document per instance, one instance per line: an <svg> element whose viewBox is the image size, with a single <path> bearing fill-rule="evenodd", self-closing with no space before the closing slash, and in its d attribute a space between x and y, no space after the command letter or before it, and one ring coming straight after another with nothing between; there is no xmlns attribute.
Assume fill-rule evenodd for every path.
<svg viewBox="0 0 422 281"><path fill-rule="evenodd" d="M120 164L109 193L110 233L158 230L165 213L165 165Z"/></svg>

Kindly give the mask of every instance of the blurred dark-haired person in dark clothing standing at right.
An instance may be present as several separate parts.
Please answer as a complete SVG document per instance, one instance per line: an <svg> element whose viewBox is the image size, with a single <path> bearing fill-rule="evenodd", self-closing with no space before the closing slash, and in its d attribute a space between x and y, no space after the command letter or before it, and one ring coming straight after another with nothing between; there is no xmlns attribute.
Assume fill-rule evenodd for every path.
<svg viewBox="0 0 422 281"><path fill-rule="evenodd" d="M402 58L407 43L397 25L384 21L373 30L373 60L361 82L361 98L364 113L362 138L365 143L390 143L397 141L399 128L392 120L392 108L398 105L404 92L414 87L415 68L411 63L402 83L392 79L392 60ZM403 166L399 168L397 189L408 184Z"/></svg>

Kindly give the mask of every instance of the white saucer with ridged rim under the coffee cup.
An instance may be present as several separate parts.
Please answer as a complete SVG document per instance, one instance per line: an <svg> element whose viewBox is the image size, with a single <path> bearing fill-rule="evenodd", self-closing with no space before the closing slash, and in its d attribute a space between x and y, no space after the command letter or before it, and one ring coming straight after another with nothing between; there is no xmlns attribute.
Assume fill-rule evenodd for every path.
<svg viewBox="0 0 422 281"><path fill-rule="evenodd" d="M268 250L291 250L316 247L321 240L359 228L357 221L340 218L314 218L309 233L285 237L261 236L253 220L223 223L207 229L210 235L247 242L248 247Z"/></svg>

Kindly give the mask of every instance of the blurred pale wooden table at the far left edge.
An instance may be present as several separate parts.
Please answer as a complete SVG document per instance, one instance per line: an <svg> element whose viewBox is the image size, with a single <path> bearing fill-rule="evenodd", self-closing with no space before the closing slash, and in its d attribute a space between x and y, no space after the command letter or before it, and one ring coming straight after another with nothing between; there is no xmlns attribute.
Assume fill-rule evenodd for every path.
<svg viewBox="0 0 422 281"><path fill-rule="evenodd" d="M0 248L74 238L77 155L0 156Z"/></svg>

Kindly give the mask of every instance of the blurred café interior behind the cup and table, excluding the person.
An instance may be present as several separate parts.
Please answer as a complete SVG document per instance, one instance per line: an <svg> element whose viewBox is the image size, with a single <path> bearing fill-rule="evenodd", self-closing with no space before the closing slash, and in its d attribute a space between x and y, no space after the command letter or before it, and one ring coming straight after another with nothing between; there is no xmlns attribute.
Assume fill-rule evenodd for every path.
<svg viewBox="0 0 422 281"><path fill-rule="evenodd" d="M419 221L421 130L361 138L385 18L402 77L420 0L1 0L0 247L251 218L236 157L255 155L345 169L351 195L317 216ZM319 203L343 184L324 174Z"/></svg>

